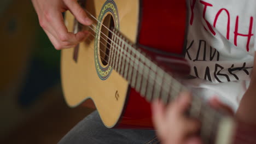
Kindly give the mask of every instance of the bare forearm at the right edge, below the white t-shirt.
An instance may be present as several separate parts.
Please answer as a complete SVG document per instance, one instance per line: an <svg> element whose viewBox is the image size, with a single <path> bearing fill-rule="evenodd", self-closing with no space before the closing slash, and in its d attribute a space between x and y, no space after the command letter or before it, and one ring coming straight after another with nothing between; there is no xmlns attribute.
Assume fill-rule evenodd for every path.
<svg viewBox="0 0 256 144"><path fill-rule="evenodd" d="M242 122L256 125L256 83L251 83L243 95L236 117Z"/></svg>

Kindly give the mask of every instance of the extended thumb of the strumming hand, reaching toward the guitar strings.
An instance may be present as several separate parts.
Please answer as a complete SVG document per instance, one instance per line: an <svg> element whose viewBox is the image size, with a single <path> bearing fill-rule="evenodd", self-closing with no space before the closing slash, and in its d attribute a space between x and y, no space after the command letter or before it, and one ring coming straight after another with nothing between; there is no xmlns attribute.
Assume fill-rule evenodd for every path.
<svg viewBox="0 0 256 144"><path fill-rule="evenodd" d="M86 15L84 9L80 7L77 1L65 1L67 7L80 23L89 26L92 24L92 20Z"/></svg>

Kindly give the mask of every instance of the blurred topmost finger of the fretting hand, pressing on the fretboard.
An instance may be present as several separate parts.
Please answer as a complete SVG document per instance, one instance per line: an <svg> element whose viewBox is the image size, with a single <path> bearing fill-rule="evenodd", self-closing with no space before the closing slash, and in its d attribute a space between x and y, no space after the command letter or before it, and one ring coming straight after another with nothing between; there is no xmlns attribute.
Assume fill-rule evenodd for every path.
<svg viewBox="0 0 256 144"><path fill-rule="evenodd" d="M190 101L190 93L182 92L181 94L179 94L179 97L176 99L176 101L174 101L173 107L178 113L184 113L188 109Z"/></svg>

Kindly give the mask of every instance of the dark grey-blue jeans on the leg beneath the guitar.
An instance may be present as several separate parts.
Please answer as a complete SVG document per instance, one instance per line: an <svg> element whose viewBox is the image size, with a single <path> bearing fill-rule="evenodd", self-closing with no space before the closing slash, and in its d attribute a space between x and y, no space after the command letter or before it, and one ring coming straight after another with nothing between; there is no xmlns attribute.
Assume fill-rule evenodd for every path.
<svg viewBox="0 0 256 144"><path fill-rule="evenodd" d="M89 144L159 144L154 130L108 129L98 112L92 112L75 125L59 142Z"/></svg>

